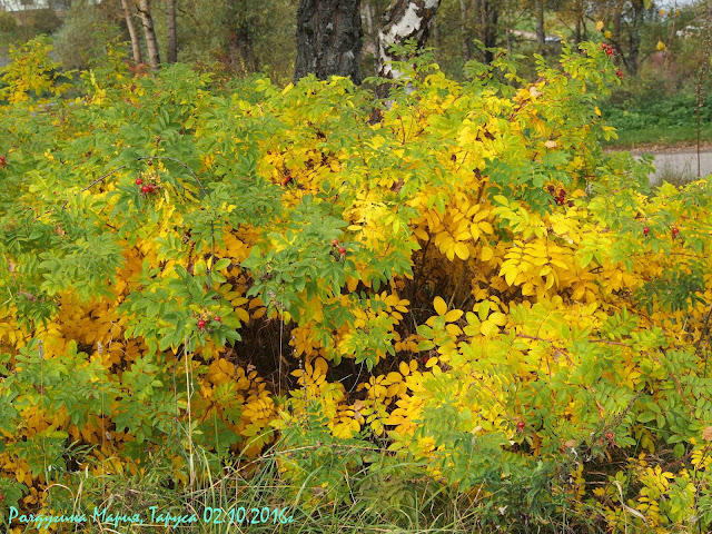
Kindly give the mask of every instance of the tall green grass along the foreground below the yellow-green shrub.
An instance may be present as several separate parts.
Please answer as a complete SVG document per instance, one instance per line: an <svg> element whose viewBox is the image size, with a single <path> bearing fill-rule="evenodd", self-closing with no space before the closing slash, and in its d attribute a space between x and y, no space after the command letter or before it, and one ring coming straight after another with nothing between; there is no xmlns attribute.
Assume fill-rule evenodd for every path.
<svg viewBox="0 0 712 534"><path fill-rule="evenodd" d="M149 466L146 472L135 476L102 476L80 472L71 475L73 484L51 485L49 501L57 516L83 513L87 521L81 522L80 526L85 528L81 532L87 534L117 532L112 530L112 524L99 525L93 521L95 506L99 517L101 511L107 511L103 518L109 523L109 514L131 517L138 513L146 523L134 523L130 520L118 523L118 532L127 534L165 532L157 526L162 521L158 517L159 514L186 518L195 515L197 521L176 525L174 532L184 534L482 532L477 528L477 511L472 506L472 497L458 494L426 476L407 479L395 476L394 473L390 482L378 484L370 482L370 477L364 472L360 473L362 476L344 482L345 486L349 486L352 498L335 504L328 490L306 483L301 486L291 485L279 473L275 459L274 456L260 458L248 465L247 469L224 467L216 472L207 468L207 463L198 458L196 466L199 476L192 488L181 488L177 484L177 487L169 488L168 484L172 486L170 469L158 465ZM404 467L419 466L414 464ZM240 508L246 511L246 520L237 523L234 514L239 513ZM268 508L273 513L267 521L250 523L255 508L258 512ZM288 522L278 520L274 514L275 508L284 510L283 518ZM154 517L151 513L155 514ZM152 526L147 524L149 522ZM13 526L24 525L16 520ZM23 532L37 532L37 527L30 524Z"/></svg>

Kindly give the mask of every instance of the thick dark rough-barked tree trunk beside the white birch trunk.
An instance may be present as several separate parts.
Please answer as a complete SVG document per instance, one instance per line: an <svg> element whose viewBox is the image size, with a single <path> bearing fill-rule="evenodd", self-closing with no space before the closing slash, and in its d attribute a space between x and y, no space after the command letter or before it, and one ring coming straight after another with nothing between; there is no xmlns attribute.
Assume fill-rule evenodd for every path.
<svg viewBox="0 0 712 534"><path fill-rule="evenodd" d="M299 0L294 79L347 76L360 83L360 0Z"/></svg>

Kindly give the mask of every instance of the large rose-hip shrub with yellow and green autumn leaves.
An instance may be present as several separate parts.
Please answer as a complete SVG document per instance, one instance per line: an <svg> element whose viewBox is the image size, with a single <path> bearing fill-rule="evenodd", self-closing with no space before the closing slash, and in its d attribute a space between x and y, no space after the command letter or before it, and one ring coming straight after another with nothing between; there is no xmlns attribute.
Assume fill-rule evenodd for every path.
<svg viewBox="0 0 712 534"><path fill-rule="evenodd" d="M534 82L413 57L387 102L111 58L83 101L3 108L8 505L271 447L306 511L355 476L483 530L712 523L712 190L602 152L595 44Z"/></svg>

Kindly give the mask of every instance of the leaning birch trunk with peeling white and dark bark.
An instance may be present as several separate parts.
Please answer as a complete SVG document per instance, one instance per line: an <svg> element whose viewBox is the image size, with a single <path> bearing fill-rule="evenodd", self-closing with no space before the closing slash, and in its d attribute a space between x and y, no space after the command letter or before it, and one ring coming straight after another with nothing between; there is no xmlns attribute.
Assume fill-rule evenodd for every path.
<svg viewBox="0 0 712 534"><path fill-rule="evenodd" d="M384 14L378 30L378 56L382 77L394 78L388 61L398 60L390 52L393 44L415 39L418 48L427 41L431 20L437 13L441 0L395 0Z"/></svg>

